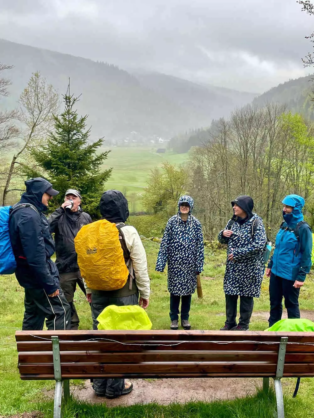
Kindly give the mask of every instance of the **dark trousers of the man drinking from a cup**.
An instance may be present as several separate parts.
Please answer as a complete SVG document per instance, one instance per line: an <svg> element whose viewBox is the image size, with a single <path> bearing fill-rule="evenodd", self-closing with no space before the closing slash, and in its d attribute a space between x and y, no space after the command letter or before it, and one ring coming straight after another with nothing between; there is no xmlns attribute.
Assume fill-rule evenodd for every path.
<svg viewBox="0 0 314 418"><path fill-rule="evenodd" d="M80 270L74 272L59 273L60 276L60 287L64 292L69 305L71 307L71 329L78 329L80 319L77 315L76 308L74 306L73 298L76 290L76 285L82 289L82 292L86 296L86 291L83 283L83 279Z"/></svg>

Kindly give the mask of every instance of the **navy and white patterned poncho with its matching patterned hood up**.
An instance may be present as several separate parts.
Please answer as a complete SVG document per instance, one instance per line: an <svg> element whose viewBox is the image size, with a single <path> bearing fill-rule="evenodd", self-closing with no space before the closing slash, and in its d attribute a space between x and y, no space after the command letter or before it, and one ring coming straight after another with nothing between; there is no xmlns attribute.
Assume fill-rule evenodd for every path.
<svg viewBox="0 0 314 418"><path fill-rule="evenodd" d="M186 222L180 217L180 204L183 202L190 205ZM194 293L196 272L203 271L203 232L201 222L191 214L193 205L190 196L180 197L178 214L166 224L156 263L156 270L163 271L168 262L168 291L177 296Z"/></svg>

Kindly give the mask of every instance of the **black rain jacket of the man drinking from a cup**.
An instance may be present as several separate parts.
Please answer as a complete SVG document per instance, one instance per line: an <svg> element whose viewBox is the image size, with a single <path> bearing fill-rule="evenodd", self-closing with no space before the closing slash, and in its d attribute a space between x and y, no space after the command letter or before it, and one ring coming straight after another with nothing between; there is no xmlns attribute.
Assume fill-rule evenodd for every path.
<svg viewBox="0 0 314 418"><path fill-rule="evenodd" d="M79 207L77 212L59 207L48 218L51 232L54 232L56 243L56 265L59 273L75 272L80 270L77 264L74 238L83 225L90 224L92 218Z"/></svg>

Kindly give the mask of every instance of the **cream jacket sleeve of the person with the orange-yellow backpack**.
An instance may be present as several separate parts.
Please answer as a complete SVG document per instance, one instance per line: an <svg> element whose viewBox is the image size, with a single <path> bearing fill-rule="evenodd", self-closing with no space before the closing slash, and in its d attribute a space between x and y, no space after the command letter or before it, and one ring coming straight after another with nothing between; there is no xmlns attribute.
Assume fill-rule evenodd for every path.
<svg viewBox="0 0 314 418"><path fill-rule="evenodd" d="M139 289L139 294L143 299L149 298L150 283L147 271L147 258L144 246L139 233L131 225L125 225L122 229L126 247L130 252L133 263L135 282Z"/></svg>

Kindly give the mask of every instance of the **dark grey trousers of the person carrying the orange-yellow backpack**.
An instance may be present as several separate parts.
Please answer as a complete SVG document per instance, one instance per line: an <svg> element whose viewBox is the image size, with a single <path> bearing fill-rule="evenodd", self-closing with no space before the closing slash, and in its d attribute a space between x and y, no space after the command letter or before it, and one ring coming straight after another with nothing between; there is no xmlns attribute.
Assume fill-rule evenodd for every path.
<svg viewBox="0 0 314 418"><path fill-rule="evenodd" d="M139 294L136 293L131 296L124 296L121 298L111 298L108 292L93 291L92 290L92 316L93 329L97 329L98 315L109 305L126 306L137 305L139 303ZM121 395L124 390L124 379L93 379L93 389L95 393L100 396L112 395L115 398Z"/></svg>

